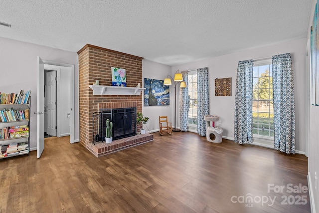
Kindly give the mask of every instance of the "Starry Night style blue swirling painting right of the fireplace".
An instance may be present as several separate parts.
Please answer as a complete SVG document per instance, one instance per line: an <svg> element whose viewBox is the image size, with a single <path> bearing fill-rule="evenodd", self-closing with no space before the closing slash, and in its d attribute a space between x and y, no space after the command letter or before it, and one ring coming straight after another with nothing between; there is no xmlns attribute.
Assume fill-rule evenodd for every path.
<svg viewBox="0 0 319 213"><path fill-rule="evenodd" d="M169 85L164 80L144 78L144 106L169 105Z"/></svg>

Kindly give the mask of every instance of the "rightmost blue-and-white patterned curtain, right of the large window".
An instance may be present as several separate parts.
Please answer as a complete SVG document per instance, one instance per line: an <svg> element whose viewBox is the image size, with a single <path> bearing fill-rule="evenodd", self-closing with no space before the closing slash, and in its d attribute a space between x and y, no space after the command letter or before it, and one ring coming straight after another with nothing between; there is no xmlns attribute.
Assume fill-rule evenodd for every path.
<svg viewBox="0 0 319 213"><path fill-rule="evenodd" d="M274 149L295 153L295 93L290 53L275 55L273 63Z"/></svg>

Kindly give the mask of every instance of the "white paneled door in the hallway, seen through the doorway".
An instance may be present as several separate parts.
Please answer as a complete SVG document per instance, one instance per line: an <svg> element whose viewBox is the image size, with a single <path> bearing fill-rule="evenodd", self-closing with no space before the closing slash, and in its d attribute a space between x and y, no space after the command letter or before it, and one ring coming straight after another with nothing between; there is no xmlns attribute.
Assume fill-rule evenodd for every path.
<svg viewBox="0 0 319 213"><path fill-rule="evenodd" d="M46 73L46 115L48 135L56 136L56 71Z"/></svg>

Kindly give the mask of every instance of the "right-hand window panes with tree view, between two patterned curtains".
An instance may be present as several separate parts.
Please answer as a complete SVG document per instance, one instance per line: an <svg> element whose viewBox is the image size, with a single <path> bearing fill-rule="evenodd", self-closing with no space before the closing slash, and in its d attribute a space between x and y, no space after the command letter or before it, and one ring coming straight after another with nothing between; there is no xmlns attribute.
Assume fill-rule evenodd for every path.
<svg viewBox="0 0 319 213"><path fill-rule="evenodd" d="M254 62L253 135L274 137L273 77L271 60Z"/></svg>

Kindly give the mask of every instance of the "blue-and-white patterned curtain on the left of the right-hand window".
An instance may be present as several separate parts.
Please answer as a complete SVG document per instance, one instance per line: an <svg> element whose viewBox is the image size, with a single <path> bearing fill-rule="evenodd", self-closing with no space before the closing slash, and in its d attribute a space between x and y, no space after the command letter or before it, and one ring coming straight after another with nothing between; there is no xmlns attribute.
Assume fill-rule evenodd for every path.
<svg viewBox="0 0 319 213"><path fill-rule="evenodd" d="M235 91L234 142L253 142L253 68L254 61L239 61Z"/></svg>

